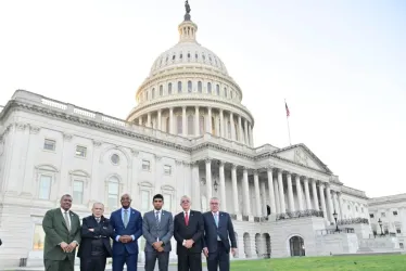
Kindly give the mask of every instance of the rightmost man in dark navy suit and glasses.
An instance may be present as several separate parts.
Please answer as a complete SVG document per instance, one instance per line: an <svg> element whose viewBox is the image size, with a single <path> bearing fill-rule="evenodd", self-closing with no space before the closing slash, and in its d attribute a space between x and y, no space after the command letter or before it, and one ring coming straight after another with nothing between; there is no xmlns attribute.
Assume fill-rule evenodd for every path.
<svg viewBox="0 0 406 271"><path fill-rule="evenodd" d="M203 253L207 258L208 271L230 271L230 248L232 255L237 253L234 228L230 215L219 211L220 201L212 197L211 211L203 214L204 238ZM231 246L230 246L231 241Z"/></svg>

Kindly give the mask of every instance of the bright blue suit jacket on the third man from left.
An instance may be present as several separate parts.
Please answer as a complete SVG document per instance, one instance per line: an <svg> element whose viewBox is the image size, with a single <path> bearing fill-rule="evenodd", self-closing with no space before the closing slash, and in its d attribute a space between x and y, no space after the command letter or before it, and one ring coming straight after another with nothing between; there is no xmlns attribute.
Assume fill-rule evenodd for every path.
<svg viewBox="0 0 406 271"><path fill-rule="evenodd" d="M124 227L122 218L122 208L115 210L110 216L110 223L113 227L113 256L123 256L127 250L128 254L138 254L138 238L142 235L142 217L141 214L132 208L129 208L130 217L127 228ZM117 242L116 237L122 235L134 235L132 242L123 244Z"/></svg>

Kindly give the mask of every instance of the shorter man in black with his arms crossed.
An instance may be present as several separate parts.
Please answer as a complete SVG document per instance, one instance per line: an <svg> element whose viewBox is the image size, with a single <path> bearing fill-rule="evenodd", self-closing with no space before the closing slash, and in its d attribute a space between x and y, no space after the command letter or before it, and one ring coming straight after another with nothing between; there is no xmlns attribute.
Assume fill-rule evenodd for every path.
<svg viewBox="0 0 406 271"><path fill-rule="evenodd" d="M103 217L103 204L93 204L91 211L93 215L84 218L81 223L81 243L77 257L80 258L81 271L104 271L107 257L113 255L110 245L113 228L110 220Z"/></svg>

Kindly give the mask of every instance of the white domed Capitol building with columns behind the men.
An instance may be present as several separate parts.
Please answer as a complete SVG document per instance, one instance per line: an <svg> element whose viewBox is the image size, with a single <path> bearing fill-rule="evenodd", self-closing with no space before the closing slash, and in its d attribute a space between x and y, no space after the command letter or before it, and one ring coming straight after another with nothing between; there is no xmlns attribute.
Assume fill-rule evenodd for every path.
<svg viewBox="0 0 406 271"><path fill-rule="evenodd" d="M198 43L189 12L178 31L125 120L25 90L0 107L0 267L42 264L41 221L64 193L80 217L94 202L109 216L124 192L141 212L155 193L174 214L182 195L201 211L217 196L233 219L238 258L403 249L406 223L386 218L404 214L406 196L389 207L375 199L369 214L365 192L344 185L305 144L255 146L242 89Z"/></svg>

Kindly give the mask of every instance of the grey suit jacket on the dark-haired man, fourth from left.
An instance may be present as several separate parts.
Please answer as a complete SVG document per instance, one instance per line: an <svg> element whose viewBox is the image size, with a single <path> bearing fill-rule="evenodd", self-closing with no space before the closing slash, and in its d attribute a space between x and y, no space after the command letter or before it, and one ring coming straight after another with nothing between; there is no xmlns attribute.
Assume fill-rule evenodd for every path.
<svg viewBox="0 0 406 271"><path fill-rule="evenodd" d="M161 210L161 221L156 224L155 210L143 215L142 235L147 240L145 251L154 251L152 246L160 238L164 243L164 250L170 251L170 238L174 236L174 218L170 211Z"/></svg>

